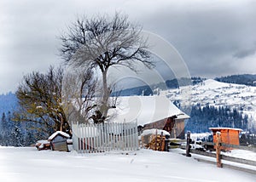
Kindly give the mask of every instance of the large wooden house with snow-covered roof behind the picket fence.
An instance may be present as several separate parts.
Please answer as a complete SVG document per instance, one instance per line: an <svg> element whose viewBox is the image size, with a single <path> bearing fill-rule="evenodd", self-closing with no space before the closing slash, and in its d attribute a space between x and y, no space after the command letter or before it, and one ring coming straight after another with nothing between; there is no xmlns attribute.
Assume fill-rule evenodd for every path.
<svg viewBox="0 0 256 182"><path fill-rule="evenodd" d="M135 122L138 128L164 129L171 138L184 138L184 120L189 116L180 111L166 96L119 97L115 108L108 111L110 122Z"/></svg>

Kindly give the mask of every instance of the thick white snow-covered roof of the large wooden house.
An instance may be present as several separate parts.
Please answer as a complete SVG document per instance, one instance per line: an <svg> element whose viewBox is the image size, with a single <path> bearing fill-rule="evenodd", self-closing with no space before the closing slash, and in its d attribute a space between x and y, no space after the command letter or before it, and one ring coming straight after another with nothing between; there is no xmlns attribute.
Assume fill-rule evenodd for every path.
<svg viewBox="0 0 256 182"><path fill-rule="evenodd" d="M129 96L119 97L116 108L108 111L110 122L135 122L144 125L168 117L189 118L180 111L166 96Z"/></svg>

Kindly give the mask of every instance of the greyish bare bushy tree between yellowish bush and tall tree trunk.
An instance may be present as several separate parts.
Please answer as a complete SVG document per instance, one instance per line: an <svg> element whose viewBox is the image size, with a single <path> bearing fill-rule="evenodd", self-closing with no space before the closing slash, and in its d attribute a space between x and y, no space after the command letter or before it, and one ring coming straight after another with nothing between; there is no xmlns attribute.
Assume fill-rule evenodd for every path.
<svg viewBox="0 0 256 182"><path fill-rule="evenodd" d="M89 69L73 69L67 71L63 82L63 106L70 121L88 122L95 110L96 84Z"/></svg>

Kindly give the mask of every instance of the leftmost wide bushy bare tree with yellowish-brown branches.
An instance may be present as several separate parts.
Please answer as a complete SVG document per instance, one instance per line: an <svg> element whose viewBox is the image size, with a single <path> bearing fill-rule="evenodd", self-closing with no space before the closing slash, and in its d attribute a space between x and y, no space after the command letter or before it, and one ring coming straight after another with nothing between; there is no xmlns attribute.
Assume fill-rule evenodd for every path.
<svg viewBox="0 0 256 182"><path fill-rule="evenodd" d="M20 111L15 121L41 122L44 132L61 130L70 134L67 117L61 107L63 69L49 68L46 74L32 72L23 78L16 96Z"/></svg>

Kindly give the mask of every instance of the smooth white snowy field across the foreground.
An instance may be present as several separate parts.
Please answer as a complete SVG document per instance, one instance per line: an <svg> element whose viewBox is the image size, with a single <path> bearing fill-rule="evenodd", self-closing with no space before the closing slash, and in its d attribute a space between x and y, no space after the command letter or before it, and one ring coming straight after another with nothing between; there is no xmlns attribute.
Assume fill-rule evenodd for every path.
<svg viewBox="0 0 256 182"><path fill-rule="evenodd" d="M256 174L197 162L174 152L121 151L80 155L0 146L1 182L255 181Z"/></svg>

